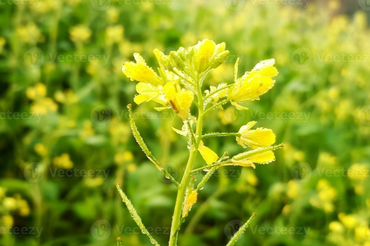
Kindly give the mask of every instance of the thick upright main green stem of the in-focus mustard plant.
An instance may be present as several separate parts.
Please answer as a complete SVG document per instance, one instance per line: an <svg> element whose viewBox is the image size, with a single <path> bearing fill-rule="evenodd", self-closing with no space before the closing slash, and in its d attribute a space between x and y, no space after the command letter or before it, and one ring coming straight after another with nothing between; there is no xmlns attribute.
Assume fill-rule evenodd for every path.
<svg viewBox="0 0 370 246"><path fill-rule="evenodd" d="M197 83L199 82L199 78L197 80ZM191 178L191 171L194 166L194 161L196 158L196 154L198 153L198 145L199 142L202 139L202 128L203 128L203 97L202 97L202 91L198 83L198 110L199 110L199 117L196 122L196 131L195 134L198 136L195 138L195 142L191 148L188 163L186 164L185 173L184 176L182 176L182 180L180 183L180 186L178 187L177 197L176 197L176 203L175 203L175 210L174 210L174 216L172 217L172 224L171 224L171 233L169 236L169 246L176 246L177 245L177 235L180 229L180 219L181 219L181 211L182 206L184 204L184 198L186 193L186 187L188 186L188 183Z"/></svg>

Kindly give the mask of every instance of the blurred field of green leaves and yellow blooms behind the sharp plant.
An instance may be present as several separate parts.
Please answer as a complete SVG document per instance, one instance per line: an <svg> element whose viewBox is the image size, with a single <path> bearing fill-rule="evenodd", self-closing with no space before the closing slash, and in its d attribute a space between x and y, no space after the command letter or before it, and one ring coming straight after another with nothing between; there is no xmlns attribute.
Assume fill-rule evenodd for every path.
<svg viewBox="0 0 370 246"><path fill-rule="evenodd" d="M239 76L269 58L279 75L249 111L212 111L204 132L255 120L286 146L256 169L220 168L178 245L226 245L256 212L236 246L369 246L369 11L368 0L1 1L0 245L115 245L118 236L151 245L116 182L166 245L176 187L131 136L135 82L122 63L139 52L155 68L153 49L208 38L231 55L205 89L231 83L238 57ZM182 122L153 106L134 105L139 131L180 180L188 149L171 126ZM232 137L206 144L218 155L243 151Z"/></svg>

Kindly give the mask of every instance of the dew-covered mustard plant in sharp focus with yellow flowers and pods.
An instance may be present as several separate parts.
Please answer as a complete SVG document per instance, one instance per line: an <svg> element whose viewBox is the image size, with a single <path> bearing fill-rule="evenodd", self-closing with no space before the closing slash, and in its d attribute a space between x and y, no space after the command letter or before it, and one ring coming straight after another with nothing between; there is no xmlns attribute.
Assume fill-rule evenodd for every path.
<svg viewBox="0 0 370 246"><path fill-rule="evenodd" d="M274 86L275 80L273 80L273 77L278 74L276 67L274 67L275 60L269 59L262 60L251 71L246 72L242 77L238 77L238 59L234 66L233 83L221 83L217 87L210 86L209 89L203 90L203 82L207 74L211 69L221 66L228 58L229 51L225 50L225 48L224 42L216 45L215 42L204 39L187 49L181 47L178 51L171 51L169 55L165 55L158 49L155 49L154 54L159 63L158 73L147 66L144 58L138 53L134 53L136 62L125 62L122 67L122 72L129 79L138 81L136 85L138 94L134 97L136 104L154 101L160 104L160 107L155 107L156 110L161 111L172 108L184 122L181 130L172 128L176 133L187 138L189 149L189 158L185 172L181 181L178 182L166 171L162 164L152 155L147 145L145 145L144 139L135 125L131 104L128 105L129 123L139 146L148 159L154 163L155 167L163 171L165 176L178 188L169 246L177 245L179 230L192 206L196 203L198 192L202 190L218 167L233 165L256 168L255 163L267 164L274 161L275 155L273 150L279 149L284 145L283 143L274 145L276 136L271 129L252 129L257 123L255 121L243 125L239 132L203 133L203 119L210 111L216 108L222 110L222 105L229 102L238 110L248 110L241 103L259 100L262 94L265 94ZM192 107L192 105L195 106ZM197 116L193 114L192 108L197 109ZM243 148L250 148L250 150L232 157L229 157L228 153L225 152L219 157L212 149L205 146L202 141L206 138L223 136L235 136L239 145ZM205 165L194 168L198 152L203 157ZM195 186L195 179L192 176L202 170L205 170L206 174L198 185ZM120 185L116 184L116 187L141 231L149 237L152 244L159 245L145 229L141 218L131 201L121 190ZM234 245L255 216L256 214L253 213L245 225L241 226L239 231L231 238L227 246Z"/></svg>

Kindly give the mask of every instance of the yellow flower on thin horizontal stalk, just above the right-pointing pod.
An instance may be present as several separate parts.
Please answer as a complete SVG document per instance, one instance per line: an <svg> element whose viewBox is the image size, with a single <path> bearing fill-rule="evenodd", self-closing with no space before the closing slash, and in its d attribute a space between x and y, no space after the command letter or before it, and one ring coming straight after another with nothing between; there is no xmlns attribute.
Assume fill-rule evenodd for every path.
<svg viewBox="0 0 370 246"><path fill-rule="evenodd" d="M256 123L256 121L250 121L248 124L240 127L240 136L236 137L236 142L243 148L247 148L246 145L248 145L250 148L256 149L275 143L276 136L271 129L259 127L255 130L250 130Z"/></svg>

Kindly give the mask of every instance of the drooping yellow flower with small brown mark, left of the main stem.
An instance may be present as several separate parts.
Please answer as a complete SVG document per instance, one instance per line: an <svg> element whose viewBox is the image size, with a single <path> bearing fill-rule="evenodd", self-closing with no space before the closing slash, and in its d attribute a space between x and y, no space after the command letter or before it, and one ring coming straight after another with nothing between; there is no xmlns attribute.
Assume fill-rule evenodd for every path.
<svg viewBox="0 0 370 246"><path fill-rule="evenodd" d="M176 83L169 82L163 87L165 98L168 100L172 109L185 121L188 120L190 107L194 100L194 94L191 91L180 89Z"/></svg>

